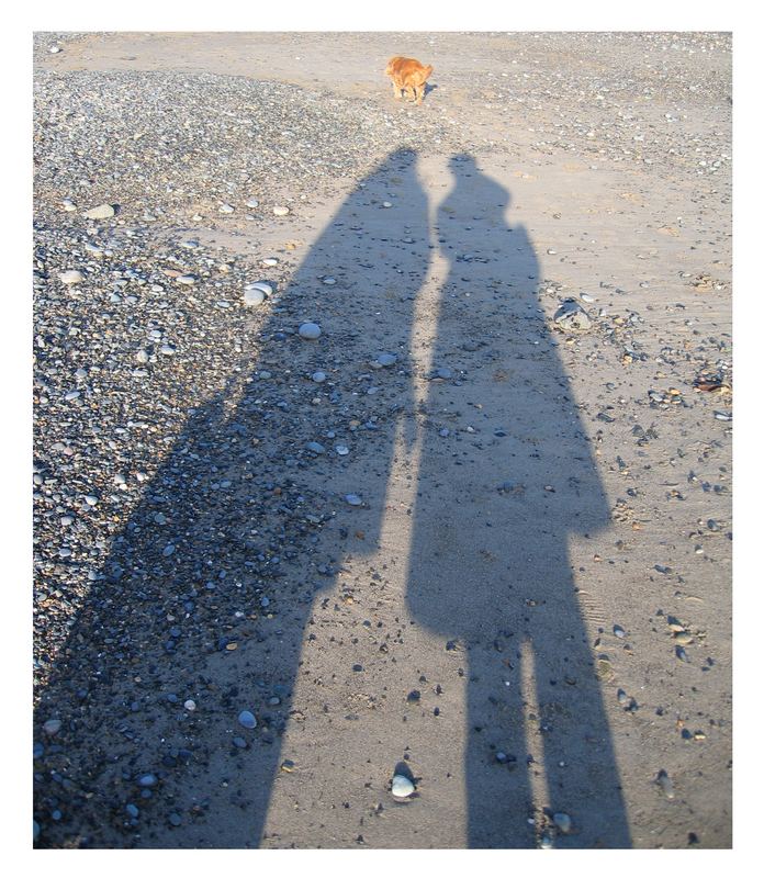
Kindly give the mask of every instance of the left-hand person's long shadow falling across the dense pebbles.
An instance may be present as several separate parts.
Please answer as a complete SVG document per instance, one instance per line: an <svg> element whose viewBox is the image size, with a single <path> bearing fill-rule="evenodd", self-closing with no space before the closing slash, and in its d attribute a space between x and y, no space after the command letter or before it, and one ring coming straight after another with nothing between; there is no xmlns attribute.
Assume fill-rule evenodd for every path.
<svg viewBox="0 0 764 878"><path fill-rule="evenodd" d="M300 721L305 629L337 572L322 545L347 537L335 514L361 434L374 459L367 491L384 496L395 424L411 408L412 312L428 261L416 154L398 150L281 291L251 369L190 409L34 711L38 846L262 843L281 736ZM383 308L394 320L379 319ZM321 324L317 341L296 334L305 319ZM377 387L369 361L382 352L397 358L385 372L395 380ZM363 510L369 544L382 509ZM43 728L50 718L55 736Z"/></svg>

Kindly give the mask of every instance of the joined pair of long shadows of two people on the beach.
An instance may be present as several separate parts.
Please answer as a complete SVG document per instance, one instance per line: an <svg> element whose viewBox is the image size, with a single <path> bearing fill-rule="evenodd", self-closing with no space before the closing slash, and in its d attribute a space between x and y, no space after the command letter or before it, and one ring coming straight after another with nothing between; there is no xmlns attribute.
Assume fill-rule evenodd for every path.
<svg viewBox="0 0 764 878"><path fill-rule="evenodd" d="M398 379L394 394L377 401L359 403L341 382L327 395L345 417L377 405L358 409L370 418L369 441L350 464L367 480L370 552L398 427L408 448L418 448L406 605L413 620L459 641L467 655L459 745L468 844L535 846L538 832L529 821L538 815L533 777L541 770L551 810L574 819L562 844L628 846L613 742L568 556L571 533L607 525L607 500L546 328L532 244L523 227L506 224L509 193L470 156L453 157L450 167L453 185L437 225L449 275L434 315L431 354L437 365L458 353L469 378L452 372L429 382L425 408L434 420L453 424L480 399L474 426L415 427L415 304L434 245L417 156L398 150L346 199L312 246L283 293L281 313L260 333L258 380L240 384L233 413L222 394L190 415L114 541L35 710L37 734L47 717L63 720L60 751L46 756L47 772L35 774L35 814L44 820L52 807L69 806L43 845L261 843L306 627L317 596L334 582L317 573L326 540L305 510L323 508L328 518L325 476L334 488L347 477L334 466L338 461L316 469L310 455L301 457L316 425L304 407L276 403L280 372L310 374L316 362L315 348L280 328L290 291L296 299L301 288L341 271L351 289L325 293L322 314L323 324L341 314L342 325L353 325L333 351L336 371L368 360L370 350L390 350ZM395 210L383 211L391 180ZM390 290L404 294L391 297ZM277 365L266 371L263 363ZM269 460L290 455L291 469L269 472ZM168 528L178 548L171 556L162 551ZM337 538L332 552L342 551ZM214 588L205 585L211 578ZM236 630L234 610L237 620L249 616L240 609L259 609L268 594L277 596L276 619L245 618L246 644L228 651L233 634L221 632ZM179 706L168 695L181 689L204 694L204 721L178 721ZM248 738L234 730L232 738L247 705L258 706L258 729ZM54 777L56 767L68 786ZM170 819L161 819L168 808Z"/></svg>

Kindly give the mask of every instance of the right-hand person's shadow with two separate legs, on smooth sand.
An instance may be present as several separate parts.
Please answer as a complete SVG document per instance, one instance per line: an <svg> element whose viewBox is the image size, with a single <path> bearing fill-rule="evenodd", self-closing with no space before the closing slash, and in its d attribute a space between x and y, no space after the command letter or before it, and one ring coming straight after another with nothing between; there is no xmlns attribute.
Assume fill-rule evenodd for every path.
<svg viewBox="0 0 764 878"><path fill-rule="evenodd" d="M451 169L407 605L465 653L469 846L535 846L541 823L561 847L626 847L568 550L571 534L607 526L607 499L537 296L532 244L505 219L509 192L470 156ZM555 829L553 813L571 825Z"/></svg>

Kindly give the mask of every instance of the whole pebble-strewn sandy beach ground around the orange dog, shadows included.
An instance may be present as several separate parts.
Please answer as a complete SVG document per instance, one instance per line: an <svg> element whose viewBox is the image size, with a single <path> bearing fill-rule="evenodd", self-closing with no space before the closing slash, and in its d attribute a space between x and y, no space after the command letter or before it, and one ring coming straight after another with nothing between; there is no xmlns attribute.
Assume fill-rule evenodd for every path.
<svg viewBox="0 0 764 878"><path fill-rule="evenodd" d="M36 844L729 847L730 36L34 52Z"/></svg>

